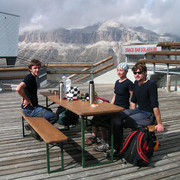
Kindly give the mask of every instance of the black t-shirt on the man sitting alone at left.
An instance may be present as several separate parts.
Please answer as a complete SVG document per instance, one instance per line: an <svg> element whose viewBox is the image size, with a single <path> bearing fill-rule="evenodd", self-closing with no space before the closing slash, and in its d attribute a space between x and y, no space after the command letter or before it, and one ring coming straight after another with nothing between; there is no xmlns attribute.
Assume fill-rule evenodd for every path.
<svg viewBox="0 0 180 180"><path fill-rule="evenodd" d="M37 97L37 83L36 77L34 77L31 73L29 73L23 80L26 84L24 88L24 92L26 96L29 98L33 106L38 105L38 97ZM32 109L33 107L28 105L25 109Z"/></svg>

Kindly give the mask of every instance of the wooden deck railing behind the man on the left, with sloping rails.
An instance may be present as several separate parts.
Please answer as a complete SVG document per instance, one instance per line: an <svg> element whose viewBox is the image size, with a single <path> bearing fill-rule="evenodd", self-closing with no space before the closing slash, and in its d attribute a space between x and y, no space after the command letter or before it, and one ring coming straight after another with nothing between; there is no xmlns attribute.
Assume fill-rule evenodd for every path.
<svg viewBox="0 0 180 180"><path fill-rule="evenodd" d="M113 62L109 62L113 57L110 56L97 63L77 63L77 64L46 64L47 74L63 74L69 75L74 82L80 82L87 78L94 78L94 75L114 66ZM105 64L106 63L106 64ZM55 68L55 69L53 69ZM28 73L27 67L3 67L0 68L0 80L23 79ZM80 75L80 77L79 77Z"/></svg>

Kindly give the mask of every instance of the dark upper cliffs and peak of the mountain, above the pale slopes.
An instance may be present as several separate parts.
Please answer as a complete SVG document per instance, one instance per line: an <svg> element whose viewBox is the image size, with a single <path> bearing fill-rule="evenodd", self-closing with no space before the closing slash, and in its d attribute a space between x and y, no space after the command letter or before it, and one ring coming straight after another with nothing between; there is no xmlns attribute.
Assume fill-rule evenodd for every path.
<svg viewBox="0 0 180 180"><path fill-rule="evenodd" d="M159 38L170 40L168 36L158 35L143 27L126 27L114 21L97 23L81 29L68 30L59 28L53 31L25 32L20 35L19 41L26 43L73 43L73 44L93 44L99 41L121 41L121 42L158 42Z"/></svg>

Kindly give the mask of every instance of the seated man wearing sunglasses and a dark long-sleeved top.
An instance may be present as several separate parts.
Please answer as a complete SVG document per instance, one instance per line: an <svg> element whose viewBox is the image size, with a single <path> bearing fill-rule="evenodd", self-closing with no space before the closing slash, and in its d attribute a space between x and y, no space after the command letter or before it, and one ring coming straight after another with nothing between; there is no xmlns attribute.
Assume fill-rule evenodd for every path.
<svg viewBox="0 0 180 180"><path fill-rule="evenodd" d="M114 134L116 155L120 155L119 152L123 142L123 128L137 129L157 123L155 126L157 132L164 131L155 82L146 78L147 67L142 63L136 63L132 71L135 82L130 109L118 113L114 119L114 129L119 132Z"/></svg>

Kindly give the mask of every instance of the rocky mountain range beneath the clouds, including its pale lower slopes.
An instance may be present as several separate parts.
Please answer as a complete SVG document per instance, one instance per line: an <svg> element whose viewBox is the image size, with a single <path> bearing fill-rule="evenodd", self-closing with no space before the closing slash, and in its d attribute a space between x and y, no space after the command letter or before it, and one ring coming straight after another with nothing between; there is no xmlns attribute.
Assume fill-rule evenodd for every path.
<svg viewBox="0 0 180 180"><path fill-rule="evenodd" d="M122 46L132 43L179 41L171 34L159 35L144 27L128 27L117 22L103 22L79 29L28 31L19 35L18 59L53 62L97 62L113 56L124 61Z"/></svg>

